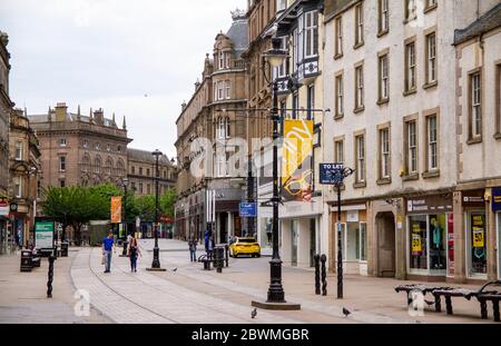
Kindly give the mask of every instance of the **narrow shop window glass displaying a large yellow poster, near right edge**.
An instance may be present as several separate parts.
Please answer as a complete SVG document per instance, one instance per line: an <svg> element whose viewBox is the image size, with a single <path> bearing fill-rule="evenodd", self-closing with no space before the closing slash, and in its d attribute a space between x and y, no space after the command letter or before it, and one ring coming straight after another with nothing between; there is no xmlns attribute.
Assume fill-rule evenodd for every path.
<svg viewBox="0 0 501 346"><path fill-rule="evenodd" d="M468 224L470 275L487 274L485 214L471 212Z"/></svg>

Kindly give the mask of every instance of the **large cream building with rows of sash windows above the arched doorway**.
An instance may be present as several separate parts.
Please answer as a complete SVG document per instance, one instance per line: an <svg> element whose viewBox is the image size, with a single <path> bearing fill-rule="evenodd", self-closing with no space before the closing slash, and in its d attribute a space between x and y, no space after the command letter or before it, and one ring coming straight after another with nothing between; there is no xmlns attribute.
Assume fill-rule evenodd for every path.
<svg viewBox="0 0 501 346"><path fill-rule="evenodd" d="M458 171L468 171L461 159L482 145L454 145L464 140L465 129L455 126L458 99L451 86L458 73L454 30L498 3L325 1L324 107L332 116L324 121L324 160L355 169L345 181L341 215L347 273L458 281L485 279L489 270L493 275L482 268L484 274L469 276L463 268ZM470 61L464 60L465 69ZM463 205L478 208L480 195L464 195ZM337 201L328 187L323 196L333 269ZM482 216L474 216L481 228Z"/></svg>

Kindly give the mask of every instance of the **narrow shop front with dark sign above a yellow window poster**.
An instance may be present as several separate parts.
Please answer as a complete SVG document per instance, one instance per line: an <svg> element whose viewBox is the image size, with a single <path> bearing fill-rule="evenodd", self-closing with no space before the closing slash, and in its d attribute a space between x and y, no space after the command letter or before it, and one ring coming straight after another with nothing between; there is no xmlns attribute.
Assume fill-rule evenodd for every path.
<svg viewBox="0 0 501 346"><path fill-rule="evenodd" d="M462 194L465 226L466 277L487 280L488 244L485 190L470 190Z"/></svg>

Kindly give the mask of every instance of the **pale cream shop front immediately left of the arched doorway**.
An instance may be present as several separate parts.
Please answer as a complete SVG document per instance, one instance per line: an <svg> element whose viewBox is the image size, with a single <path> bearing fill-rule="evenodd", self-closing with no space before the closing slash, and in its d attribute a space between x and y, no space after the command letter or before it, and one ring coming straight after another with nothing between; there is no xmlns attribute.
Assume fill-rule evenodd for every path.
<svg viewBox="0 0 501 346"><path fill-rule="evenodd" d="M337 251L337 207L331 209L334 223L333 249ZM343 206L341 209L341 246L343 271L367 276L367 212L365 205Z"/></svg>

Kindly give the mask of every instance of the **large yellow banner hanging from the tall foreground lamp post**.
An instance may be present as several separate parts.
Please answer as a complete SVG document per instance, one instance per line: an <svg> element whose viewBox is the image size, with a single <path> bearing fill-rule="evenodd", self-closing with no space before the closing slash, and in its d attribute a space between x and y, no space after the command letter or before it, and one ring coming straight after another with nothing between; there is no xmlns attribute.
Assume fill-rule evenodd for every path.
<svg viewBox="0 0 501 346"><path fill-rule="evenodd" d="M311 201L313 194L313 120L285 120L282 149L282 197Z"/></svg>

